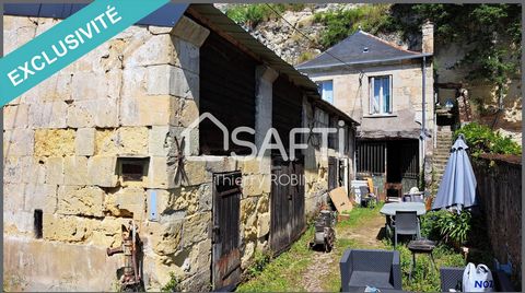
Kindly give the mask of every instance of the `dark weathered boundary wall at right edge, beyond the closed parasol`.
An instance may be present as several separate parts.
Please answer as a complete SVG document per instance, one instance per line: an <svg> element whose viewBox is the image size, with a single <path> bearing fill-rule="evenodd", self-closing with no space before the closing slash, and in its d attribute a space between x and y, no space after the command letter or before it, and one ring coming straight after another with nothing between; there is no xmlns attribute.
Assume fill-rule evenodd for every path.
<svg viewBox="0 0 525 293"><path fill-rule="evenodd" d="M522 164L493 157L472 160L477 197L487 221L492 253L500 263L512 263L513 280L522 280ZM516 288L521 291L518 288Z"/></svg>

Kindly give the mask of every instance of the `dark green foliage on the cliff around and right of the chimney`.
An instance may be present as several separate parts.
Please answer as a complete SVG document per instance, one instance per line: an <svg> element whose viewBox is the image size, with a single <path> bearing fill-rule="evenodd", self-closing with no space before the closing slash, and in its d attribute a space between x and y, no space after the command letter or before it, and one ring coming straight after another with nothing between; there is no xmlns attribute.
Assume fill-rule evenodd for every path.
<svg viewBox="0 0 525 293"><path fill-rule="evenodd" d="M432 21L438 47L468 44L452 68L468 68L469 80L494 84L497 96L504 96L509 81L521 75L521 12L518 4L395 4L388 28L408 38Z"/></svg>

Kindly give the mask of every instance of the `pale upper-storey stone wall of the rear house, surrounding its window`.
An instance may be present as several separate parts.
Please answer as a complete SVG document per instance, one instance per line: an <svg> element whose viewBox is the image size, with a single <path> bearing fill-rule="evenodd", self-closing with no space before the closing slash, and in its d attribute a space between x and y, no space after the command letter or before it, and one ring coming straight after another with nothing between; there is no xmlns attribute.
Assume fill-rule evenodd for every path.
<svg viewBox="0 0 525 293"><path fill-rule="evenodd" d="M361 75L361 71L364 75ZM392 75L393 116L369 115L371 77ZM422 70L421 61L405 61L397 65L381 65L340 70L313 72L314 81L334 81L334 105L361 124L358 131L363 137L419 138L422 121ZM361 82L360 82L361 77ZM425 73L425 122L433 129L433 78L432 66Z"/></svg>

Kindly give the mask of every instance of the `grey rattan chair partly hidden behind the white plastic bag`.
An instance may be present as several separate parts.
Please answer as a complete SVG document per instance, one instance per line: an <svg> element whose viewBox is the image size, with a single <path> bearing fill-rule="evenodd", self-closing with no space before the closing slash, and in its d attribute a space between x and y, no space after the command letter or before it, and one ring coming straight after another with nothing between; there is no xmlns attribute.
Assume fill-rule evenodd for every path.
<svg viewBox="0 0 525 293"><path fill-rule="evenodd" d="M450 292L456 290L457 292L463 289L463 272L465 268L440 268L440 281L441 291ZM502 271L492 271L492 278L494 279L495 291L498 292L515 292L509 277Z"/></svg>

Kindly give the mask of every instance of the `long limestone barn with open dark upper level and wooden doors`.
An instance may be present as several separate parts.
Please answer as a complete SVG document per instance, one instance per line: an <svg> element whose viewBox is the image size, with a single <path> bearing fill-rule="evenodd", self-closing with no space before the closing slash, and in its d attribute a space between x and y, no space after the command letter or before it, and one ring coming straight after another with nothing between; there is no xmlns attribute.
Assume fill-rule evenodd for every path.
<svg viewBox="0 0 525 293"><path fill-rule="evenodd" d="M7 9L5 54L59 23L57 8L73 11ZM160 17L3 107L7 290L116 290L124 259L106 248L130 221L145 290L172 276L188 291L233 285L255 251L285 249L326 191L353 177L357 122L315 83L212 5L189 5L175 25ZM300 133L293 161L275 149L246 160L246 142L260 153L269 129L290 155L293 128L334 121L346 136L327 148ZM255 129L236 133L244 143L240 126Z"/></svg>

